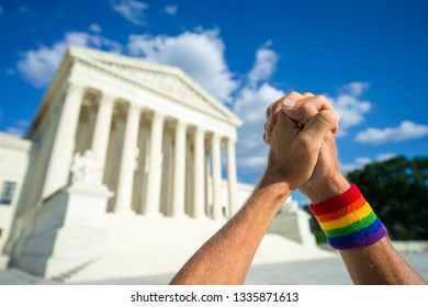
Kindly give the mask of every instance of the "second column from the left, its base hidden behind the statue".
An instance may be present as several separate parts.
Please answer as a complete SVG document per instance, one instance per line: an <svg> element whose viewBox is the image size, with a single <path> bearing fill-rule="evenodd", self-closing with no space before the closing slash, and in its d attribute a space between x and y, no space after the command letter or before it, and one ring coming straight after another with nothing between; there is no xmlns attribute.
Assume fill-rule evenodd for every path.
<svg viewBox="0 0 428 307"><path fill-rule="evenodd" d="M104 171L105 158L109 146L110 126L112 124L112 115L114 107L114 99L109 95L102 95L98 107L95 128L92 137L92 151L99 166Z"/></svg>

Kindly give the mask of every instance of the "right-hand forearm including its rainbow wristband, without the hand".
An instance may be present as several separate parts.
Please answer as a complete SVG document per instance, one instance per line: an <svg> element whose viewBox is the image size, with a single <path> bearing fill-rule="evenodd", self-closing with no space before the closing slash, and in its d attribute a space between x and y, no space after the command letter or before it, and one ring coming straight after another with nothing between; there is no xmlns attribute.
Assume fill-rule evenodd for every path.
<svg viewBox="0 0 428 307"><path fill-rule="evenodd" d="M350 193L351 189L340 194L337 191L340 189L336 190L336 193L330 191L330 196L334 194L336 196L327 201L320 198L323 201L320 206L329 211L328 213L317 207L318 205L313 205L312 208L315 209L314 213L330 246L339 250L352 282L354 284L425 284L424 278L393 248L385 236L386 228L363 196ZM328 209L325 205L335 208Z"/></svg>

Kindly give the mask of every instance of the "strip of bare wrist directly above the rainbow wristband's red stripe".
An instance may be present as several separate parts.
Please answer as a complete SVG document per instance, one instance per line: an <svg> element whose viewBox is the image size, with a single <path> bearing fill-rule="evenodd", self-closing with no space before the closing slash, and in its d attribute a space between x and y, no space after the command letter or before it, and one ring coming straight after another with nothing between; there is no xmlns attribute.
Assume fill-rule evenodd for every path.
<svg viewBox="0 0 428 307"><path fill-rule="evenodd" d="M304 186L301 189L301 192L305 194L313 204L319 204L343 194L350 186L348 180L339 173L328 180L320 181L318 184Z"/></svg>

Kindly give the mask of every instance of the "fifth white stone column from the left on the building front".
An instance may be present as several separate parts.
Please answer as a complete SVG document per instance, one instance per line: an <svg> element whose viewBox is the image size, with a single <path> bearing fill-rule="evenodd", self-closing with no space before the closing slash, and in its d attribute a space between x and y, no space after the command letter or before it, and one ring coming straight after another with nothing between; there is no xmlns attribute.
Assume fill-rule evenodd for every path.
<svg viewBox="0 0 428 307"><path fill-rule="evenodd" d="M176 148L173 156L172 216L184 215L185 128L185 123L181 121L177 123Z"/></svg>

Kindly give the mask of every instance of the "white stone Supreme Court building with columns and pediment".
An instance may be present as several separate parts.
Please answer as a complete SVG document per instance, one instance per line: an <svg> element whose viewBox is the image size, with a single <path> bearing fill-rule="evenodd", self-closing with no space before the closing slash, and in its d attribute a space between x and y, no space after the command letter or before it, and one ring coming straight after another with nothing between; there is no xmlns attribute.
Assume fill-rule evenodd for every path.
<svg viewBox="0 0 428 307"><path fill-rule="evenodd" d="M229 218L240 125L178 68L70 47L25 138L0 135L0 262L55 277L104 253L106 216Z"/></svg>

